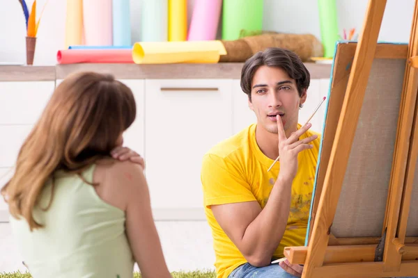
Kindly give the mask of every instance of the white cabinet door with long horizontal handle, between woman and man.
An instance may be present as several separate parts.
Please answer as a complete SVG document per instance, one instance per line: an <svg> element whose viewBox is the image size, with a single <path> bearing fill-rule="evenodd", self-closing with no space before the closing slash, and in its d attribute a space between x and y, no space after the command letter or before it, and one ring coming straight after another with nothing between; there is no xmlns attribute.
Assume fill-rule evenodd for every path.
<svg viewBox="0 0 418 278"><path fill-rule="evenodd" d="M146 177L153 208L203 207L203 155L232 135L231 83L146 79Z"/></svg>

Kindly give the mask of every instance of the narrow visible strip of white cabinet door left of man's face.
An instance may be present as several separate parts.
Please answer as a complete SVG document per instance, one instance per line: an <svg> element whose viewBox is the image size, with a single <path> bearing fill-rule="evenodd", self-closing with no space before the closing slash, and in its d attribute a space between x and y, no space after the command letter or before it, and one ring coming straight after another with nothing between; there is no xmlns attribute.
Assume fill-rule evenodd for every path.
<svg viewBox="0 0 418 278"><path fill-rule="evenodd" d="M232 85L233 133L235 134L250 124L256 123L257 117L248 106L248 96L241 90L240 79L233 79Z"/></svg>

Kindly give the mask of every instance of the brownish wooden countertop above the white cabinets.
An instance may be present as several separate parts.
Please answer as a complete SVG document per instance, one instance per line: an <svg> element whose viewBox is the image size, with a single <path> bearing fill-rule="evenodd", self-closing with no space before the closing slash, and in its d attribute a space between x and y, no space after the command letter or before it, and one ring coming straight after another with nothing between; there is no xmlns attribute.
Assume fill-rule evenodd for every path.
<svg viewBox="0 0 418 278"><path fill-rule="evenodd" d="M0 81L53 81L81 71L105 72L116 79L240 79L243 63L217 64L68 64L56 66L0 66ZM330 78L331 65L305 63L311 79Z"/></svg>

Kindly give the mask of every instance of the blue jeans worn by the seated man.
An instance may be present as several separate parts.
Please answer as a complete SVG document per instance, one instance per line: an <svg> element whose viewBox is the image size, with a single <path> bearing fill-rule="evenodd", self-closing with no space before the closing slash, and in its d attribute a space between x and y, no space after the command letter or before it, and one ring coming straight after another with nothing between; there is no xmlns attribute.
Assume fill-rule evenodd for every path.
<svg viewBox="0 0 418 278"><path fill-rule="evenodd" d="M243 265L235 268L233 272L228 276L228 278L294 278L291 274L284 271L279 264L274 263L273 265L267 265L263 268L256 268L255 266L245 263ZM414 277L405 277L405 278L414 278ZM417 278L417 277L415 277Z"/></svg>

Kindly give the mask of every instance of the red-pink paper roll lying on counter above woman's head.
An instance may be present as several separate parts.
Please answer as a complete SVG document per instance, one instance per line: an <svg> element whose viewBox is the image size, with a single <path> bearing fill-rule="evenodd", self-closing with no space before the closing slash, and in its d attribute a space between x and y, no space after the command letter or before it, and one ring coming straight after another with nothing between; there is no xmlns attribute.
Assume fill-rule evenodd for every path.
<svg viewBox="0 0 418 278"><path fill-rule="evenodd" d="M66 49L56 54L59 64L134 63L132 49Z"/></svg>

